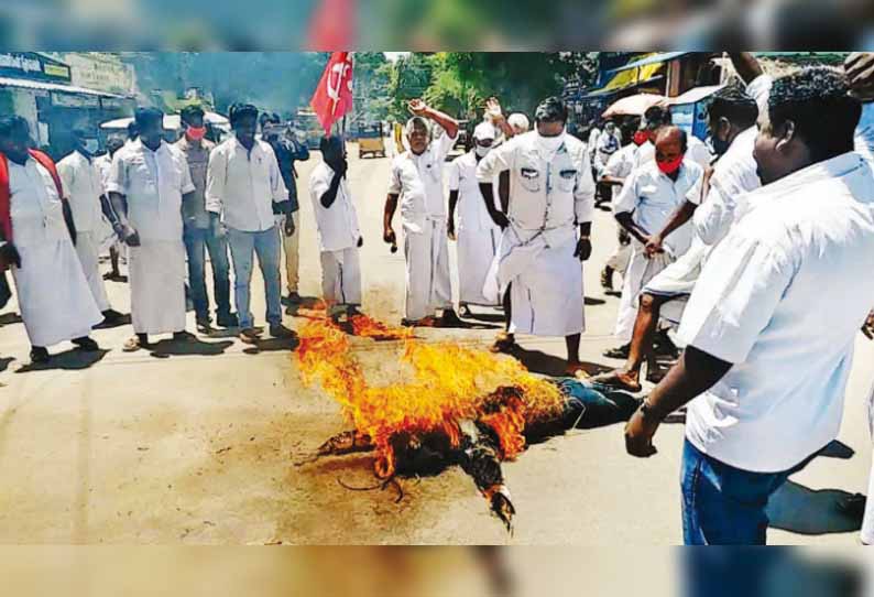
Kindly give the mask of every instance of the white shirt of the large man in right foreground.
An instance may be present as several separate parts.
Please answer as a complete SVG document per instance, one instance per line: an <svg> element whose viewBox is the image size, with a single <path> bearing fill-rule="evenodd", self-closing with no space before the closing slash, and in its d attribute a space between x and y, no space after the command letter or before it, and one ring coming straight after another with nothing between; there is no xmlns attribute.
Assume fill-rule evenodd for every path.
<svg viewBox="0 0 874 597"><path fill-rule="evenodd" d="M874 177L850 152L751 193L711 252L679 335L733 363L686 436L744 470L787 470L838 434L874 296Z"/></svg>

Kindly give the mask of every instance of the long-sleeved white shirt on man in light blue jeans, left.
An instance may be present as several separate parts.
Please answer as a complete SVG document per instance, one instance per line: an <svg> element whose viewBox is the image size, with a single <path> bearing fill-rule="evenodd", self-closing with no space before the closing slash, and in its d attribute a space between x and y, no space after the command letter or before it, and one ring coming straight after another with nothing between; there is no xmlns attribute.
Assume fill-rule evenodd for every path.
<svg viewBox="0 0 874 597"><path fill-rule="evenodd" d="M250 152L231 137L209 154L206 209L223 214L229 228L270 230L276 225L273 204L286 200L288 189L270 143L256 139Z"/></svg>

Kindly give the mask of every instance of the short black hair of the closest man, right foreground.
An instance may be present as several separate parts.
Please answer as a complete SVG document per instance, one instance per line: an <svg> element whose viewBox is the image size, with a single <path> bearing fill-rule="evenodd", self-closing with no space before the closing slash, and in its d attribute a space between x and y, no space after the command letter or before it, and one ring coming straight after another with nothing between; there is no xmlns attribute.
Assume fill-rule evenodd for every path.
<svg viewBox="0 0 874 597"><path fill-rule="evenodd" d="M818 162L853 151L862 104L850 96L844 74L815 66L774 79L768 97L771 128L795 123Z"/></svg>

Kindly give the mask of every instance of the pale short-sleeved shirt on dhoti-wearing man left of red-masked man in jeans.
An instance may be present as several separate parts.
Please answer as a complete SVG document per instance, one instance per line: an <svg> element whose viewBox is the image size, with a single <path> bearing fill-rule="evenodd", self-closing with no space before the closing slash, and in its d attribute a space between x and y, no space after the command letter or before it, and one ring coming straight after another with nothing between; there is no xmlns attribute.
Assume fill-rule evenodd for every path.
<svg viewBox="0 0 874 597"><path fill-rule="evenodd" d="M182 196L194 192L185 155L162 141L157 151L141 140L112 159L108 193L124 195L128 220L141 240L182 240Z"/></svg>

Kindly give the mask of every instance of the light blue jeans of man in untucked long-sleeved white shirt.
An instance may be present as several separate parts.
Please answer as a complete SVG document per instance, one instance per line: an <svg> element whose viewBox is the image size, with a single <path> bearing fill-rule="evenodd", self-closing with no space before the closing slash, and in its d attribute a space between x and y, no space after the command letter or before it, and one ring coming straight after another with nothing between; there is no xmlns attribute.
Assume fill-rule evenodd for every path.
<svg viewBox="0 0 874 597"><path fill-rule="evenodd" d="M261 275L264 278L267 323L280 325L282 323L282 283L280 281L282 245L278 229L274 226L263 232L243 232L229 228L228 240L231 246L231 258L233 258L233 296L237 301L240 327L247 329L253 325L252 312L249 310L249 286L252 281L252 262L255 253Z"/></svg>

